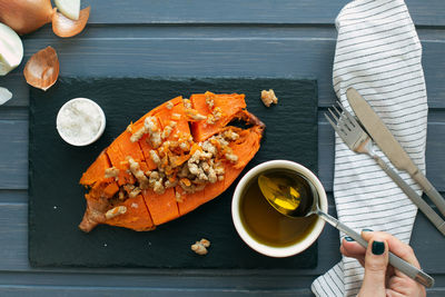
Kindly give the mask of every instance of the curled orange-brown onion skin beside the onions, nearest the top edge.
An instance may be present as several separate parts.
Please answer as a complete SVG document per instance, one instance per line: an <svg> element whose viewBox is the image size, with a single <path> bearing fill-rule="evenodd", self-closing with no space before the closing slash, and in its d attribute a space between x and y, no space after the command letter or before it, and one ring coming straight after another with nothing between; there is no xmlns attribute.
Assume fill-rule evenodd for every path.
<svg viewBox="0 0 445 297"><path fill-rule="evenodd" d="M60 12L52 16L52 31L58 37L72 37L80 33L85 26L87 26L88 18L90 17L90 7L80 10L79 19L77 21L70 20Z"/></svg>

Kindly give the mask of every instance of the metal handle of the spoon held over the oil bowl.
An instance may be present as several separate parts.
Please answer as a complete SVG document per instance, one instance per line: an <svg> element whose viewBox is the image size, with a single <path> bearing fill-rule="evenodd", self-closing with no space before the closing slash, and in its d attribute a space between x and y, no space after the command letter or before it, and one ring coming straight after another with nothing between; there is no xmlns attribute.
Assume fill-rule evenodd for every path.
<svg viewBox="0 0 445 297"><path fill-rule="evenodd" d="M338 219L334 218L333 216L322 211L317 210L317 215L329 222L332 226L337 228L338 230L345 232L347 236L354 238L360 246L364 248L367 248L368 242L362 238L362 236L347 227L345 224L339 221ZM400 273L407 275L408 277L413 278L417 283L424 285L427 288L431 288L434 286L434 278L431 277L429 275L425 274L423 270L418 269L417 267L414 267L409 263L405 261L404 259L397 257L393 253L389 251L389 264L398 269Z"/></svg>

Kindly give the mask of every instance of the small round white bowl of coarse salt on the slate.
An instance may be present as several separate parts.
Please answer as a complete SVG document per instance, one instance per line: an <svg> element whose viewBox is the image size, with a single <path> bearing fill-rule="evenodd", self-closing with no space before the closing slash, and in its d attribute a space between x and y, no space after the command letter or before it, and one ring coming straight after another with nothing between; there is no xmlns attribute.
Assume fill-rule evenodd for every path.
<svg viewBox="0 0 445 297"><path fill-rule="evenodd" d="M103 112L89 99L78 98L68 101L57 117L60 136L71 145L88 143L100 132Z"/></svg>

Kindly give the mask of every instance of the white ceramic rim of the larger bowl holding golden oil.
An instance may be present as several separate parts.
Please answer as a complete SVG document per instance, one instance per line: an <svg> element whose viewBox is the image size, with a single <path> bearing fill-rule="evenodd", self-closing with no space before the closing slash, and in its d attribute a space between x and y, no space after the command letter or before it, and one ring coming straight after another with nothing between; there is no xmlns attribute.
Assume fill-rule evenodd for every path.
<svg viewBox="0 0 445 297"><path fill-rule="evenodd" d="M235 189L234 199L231 200L231 218L234 220L234 225L238 235L241 239L253 249L256 251L270 256L270 257L289 257L297 255L305 249L307 249L315 240L317 240L318 236L323 231L323 227L325 226L325 221L320 218L317 218L315 226L309 235L307 235L303 240L286 247L271 247L265 244L258 242L255 240L247 231L246 228L243 226L241 218L240 218L240 198L245 190L245 187L249 185L249 181L257 177L260 172L270 169L288 169L307 178L309 182L312 182L318 191L318 204L323 211L327 212L327 198L326 191L323 187L322 182L318 178L306 167L303 165L287 161L287 160L274 160L260 164L253 169L250 169L238 182L238 186Z"/></svg>

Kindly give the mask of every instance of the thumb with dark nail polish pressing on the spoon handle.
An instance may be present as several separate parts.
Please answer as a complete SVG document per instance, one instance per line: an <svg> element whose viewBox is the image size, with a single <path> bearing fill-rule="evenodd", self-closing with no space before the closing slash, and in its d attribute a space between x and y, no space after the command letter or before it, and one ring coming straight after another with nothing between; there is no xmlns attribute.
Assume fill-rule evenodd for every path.
<svg viewBox="0 0 445 297"><path fill-rule="evenodd" d="M372 236L365 255L365 277L358 296L386 296L385 281L388 266L388 245L384 239Z"/></svg>

